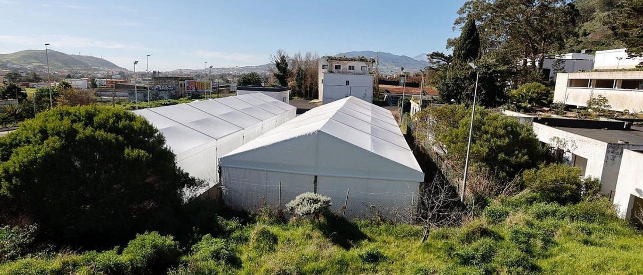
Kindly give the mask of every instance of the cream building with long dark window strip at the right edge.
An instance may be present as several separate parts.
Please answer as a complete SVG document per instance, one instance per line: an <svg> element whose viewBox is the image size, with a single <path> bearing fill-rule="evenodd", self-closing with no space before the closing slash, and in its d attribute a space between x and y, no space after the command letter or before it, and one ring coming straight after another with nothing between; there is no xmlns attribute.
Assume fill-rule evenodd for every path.
<svg viewBox="0 0 643 275"><path fill-rule="evenodd" d="M554 102L587 107L591 96L599 94L610 102L613 111L643 111L643 71L597 71L559 73Z"/></svg>

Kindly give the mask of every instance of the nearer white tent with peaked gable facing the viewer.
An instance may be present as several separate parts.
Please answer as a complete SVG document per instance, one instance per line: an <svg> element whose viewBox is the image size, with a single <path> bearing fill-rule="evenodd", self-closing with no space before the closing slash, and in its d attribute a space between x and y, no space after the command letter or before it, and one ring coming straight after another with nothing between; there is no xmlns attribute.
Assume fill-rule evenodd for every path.
<svg viewBox="0 0 643 275"><path fill-rule="evenodd" d="M399 218L424 180L391 112L352 96L253 139L220 166L224 200L233 208L279 208L316 191L331 197L334 209L346 203L347 217L379 211Z"/></svg>

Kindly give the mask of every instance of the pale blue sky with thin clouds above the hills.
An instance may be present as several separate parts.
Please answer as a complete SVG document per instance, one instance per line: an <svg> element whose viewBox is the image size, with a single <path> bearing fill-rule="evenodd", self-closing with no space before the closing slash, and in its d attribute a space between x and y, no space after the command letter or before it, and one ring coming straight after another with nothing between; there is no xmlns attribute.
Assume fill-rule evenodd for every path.
<svg viewBox="0 0 643 275"><path fill-rule="evenodd" d="M150 70L266 64L277 49L442 51L461 1L0 0L0 53L51 49Z"/></svg>

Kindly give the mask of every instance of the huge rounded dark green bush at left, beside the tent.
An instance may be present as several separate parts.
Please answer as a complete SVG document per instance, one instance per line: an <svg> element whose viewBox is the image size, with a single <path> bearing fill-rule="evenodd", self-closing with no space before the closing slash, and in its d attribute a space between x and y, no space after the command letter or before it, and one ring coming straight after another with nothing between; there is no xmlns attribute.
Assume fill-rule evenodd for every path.
<svg viewBox="0 0 643 275"><path fill-rule="evenodd" d="M26 219L52 242L113 245L181 226L183 188L163 136L113 107L57 107L0 137L0 224Z"/></svg>

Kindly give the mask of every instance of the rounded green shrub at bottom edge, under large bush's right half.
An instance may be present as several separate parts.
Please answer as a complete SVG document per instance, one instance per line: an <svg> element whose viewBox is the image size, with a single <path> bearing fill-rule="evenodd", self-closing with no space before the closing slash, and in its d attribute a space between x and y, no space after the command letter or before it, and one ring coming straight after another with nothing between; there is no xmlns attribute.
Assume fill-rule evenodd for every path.
<svg viewBox="0 0 643 275"><path fill-rule="evenodd" d="M136 235L123 249L123 256L135 272L160 273L179 262L181 249L172 236L152 232Z"/></svg>

